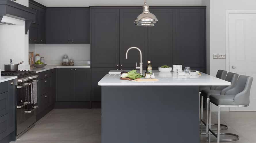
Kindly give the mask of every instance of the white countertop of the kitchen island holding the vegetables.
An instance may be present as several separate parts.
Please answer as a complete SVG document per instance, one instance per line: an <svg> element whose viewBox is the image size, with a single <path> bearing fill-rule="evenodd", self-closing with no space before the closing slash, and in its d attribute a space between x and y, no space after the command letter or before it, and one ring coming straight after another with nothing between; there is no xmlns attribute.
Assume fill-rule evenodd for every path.
<svg viewBox="0 0 256 143"><path fill-rule="evenodd" d="M129 70L127 70L129 71ZM177 73L163 73L153 70L157 82L136 82L120 80L120 70L111 70L99 82L99 86L229 86L230 82L200 72L201 76L178 76Z"/></svg>

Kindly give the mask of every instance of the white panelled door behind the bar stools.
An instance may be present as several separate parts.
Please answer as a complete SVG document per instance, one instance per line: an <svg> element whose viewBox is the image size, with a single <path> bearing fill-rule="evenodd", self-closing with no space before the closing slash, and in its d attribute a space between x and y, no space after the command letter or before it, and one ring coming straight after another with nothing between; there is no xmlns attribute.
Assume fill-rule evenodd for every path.
<svg viewBox="0 0 256 143"><path fill-rule="evenodd" d="M230 111L256 111L256 13L229 14L230 72L254 78L250 105Z"/></svg>

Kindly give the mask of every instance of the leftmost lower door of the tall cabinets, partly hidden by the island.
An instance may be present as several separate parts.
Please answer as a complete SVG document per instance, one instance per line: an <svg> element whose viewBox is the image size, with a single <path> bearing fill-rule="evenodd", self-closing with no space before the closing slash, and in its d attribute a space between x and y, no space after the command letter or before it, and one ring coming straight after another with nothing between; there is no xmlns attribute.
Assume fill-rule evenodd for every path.
<svg viewBox="0 0 256 143"><path fill-rule="evenodd" d="M91 68L91 101L101 101L101 86L98 82L115 68Z"/></svg>

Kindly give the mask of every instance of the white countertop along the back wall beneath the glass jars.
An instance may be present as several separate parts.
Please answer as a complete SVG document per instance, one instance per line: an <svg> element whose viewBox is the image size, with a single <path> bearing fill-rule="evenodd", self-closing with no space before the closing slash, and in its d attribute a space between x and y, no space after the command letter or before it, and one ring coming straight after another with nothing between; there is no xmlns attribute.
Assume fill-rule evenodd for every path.
<svg viewBox="0 0 256 143"><path fill-rule="evenodd" d="M30 70L37 73L44 72L55 68L90 68L91 65L75 65L75 66L62 66L62 65L46 65L45 67L31 67Z"/></svg>

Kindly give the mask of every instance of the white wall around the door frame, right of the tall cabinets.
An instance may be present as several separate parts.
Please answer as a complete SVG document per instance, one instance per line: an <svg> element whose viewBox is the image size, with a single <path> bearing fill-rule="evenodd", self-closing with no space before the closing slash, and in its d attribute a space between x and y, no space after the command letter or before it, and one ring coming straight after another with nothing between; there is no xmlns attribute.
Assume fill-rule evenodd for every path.
<svg viewBox="0 0 256 143"><path fill-rule="evenodd" d="M226 59L213 59L213 53L226 53L226 10L253 10L256 1L214 0L210 5L210 72L215 76L218 69L226 69Z"/></svg>

